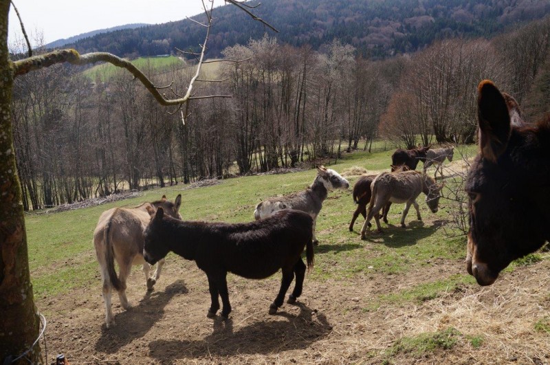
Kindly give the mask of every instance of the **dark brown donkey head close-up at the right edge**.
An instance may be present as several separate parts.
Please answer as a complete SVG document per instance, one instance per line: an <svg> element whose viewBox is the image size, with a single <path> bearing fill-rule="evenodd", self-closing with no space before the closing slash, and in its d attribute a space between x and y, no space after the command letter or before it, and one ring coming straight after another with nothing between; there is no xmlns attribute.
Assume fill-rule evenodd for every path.
<svg viewBox="0 0 550 365"><path fill-rule="evenodd" d="M550 240L550 116L524 124L514 98L483 80L478 126L479 153L465 184L466 269L491 285L511 261Z"/></svg>

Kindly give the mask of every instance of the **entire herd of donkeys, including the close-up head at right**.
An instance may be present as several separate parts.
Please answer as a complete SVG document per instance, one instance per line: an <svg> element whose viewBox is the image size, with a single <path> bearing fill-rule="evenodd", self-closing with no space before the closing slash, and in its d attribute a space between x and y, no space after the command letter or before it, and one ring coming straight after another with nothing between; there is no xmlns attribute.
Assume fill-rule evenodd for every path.
<svg viewBox="0 0 550 365"><path fill-rule="evenodd" d="M533 149L537 146L531 146L532 134L539 133L540 136L548 137L544 133L549 133L547 130L550 130L550 126L547 124L550 124L550 119L546 124L541 122L536 127L523 126L518 122L522 120L515 100L505 93L500 93L492 82L481 82L478 92L480 153L474 160L467 178L470 232L466 264L468 272L476 277L479 284L489 285L511 260L533 252L550 237L547 232L540 232L538 236L531 234L516 243L509 243L501 234L509 223L506 219L496 217L505 217L503 213L510 210L514 213L514 208L517 207L509 203L504 207L500 205L500 211L493 212L492 206L484 205L484 200L481 199L482 192L485 199L485 196L492 197L508 191L505 188L487 190L486 185L494 180L507 178L507 184L516 184L515 188L521 184L529 184L529 181L510 175L514 174L514 170L511 170L508 164L511 164L510 161L520 164L516 166L516 170L525 170L535 164ZM502 133L497 130L497 126L503 128ZM531 137L514 137L522 135L521 133L531 133ZM526 145L531 149L524 148ZM521 162L522 154L527 150L531 156L529 164ZM362 175L353 188L353 200L358 204L358 208L353 213L349 230L353 230L355 219L362 214L365 218L361 230L362 237L369 231L372 218L375 218L377 230L380 231L380 217L382 216L387 223L386 215L391 203L406 204L401 217L402 227L405 226L405 217L411 205L417 211L417 219L421 219L416 202L421 192L426 195L426 203L430 210L437 212L443 186L426 174L426 168L434 164L435 176L440 171L443 177L441 164L445 158L452 161L453 151L453 146L398 149L392 156L390 172ZM544 153L546 155L542 157L548 157L548 152ZM419 161L423 161L423 172L415 170ZM544 163L548 166L548 160ZM548 167L544 167L543 170L550 175ZM546 179L548 183L548 177ZM316 219L322 202L330 190L338 188L348 189L347 179L335 170L318 166L318 174L309 188L285 197L262 201L254 210L255 221L249 223L183 221L179 214L181 195L173 202L163 196L159 201L143 203L135 208L112 208L103 212L94 231L94 246L102 274L107 327L114 324L111 311L113 289L117 291L122 307L131 307L126 298L126 279L132 265L143 265L146 286L151 290L160 276L168 252L195 261L206 273L211 296L207 312L209 318L217 316L220 309L219 298L222 304L221 317L228 318L231 312L226 280L228 272L244 278L261 279L281 270L281 288L270 305L269 313L276 313L283 305L294 278L294 289L292 294L289 294L287 302L296 302L302 294L305 273L314 264L314 245L318 244L315 232ZM534 194L536 191L527 192L527 195L529 193ZM544 199L548 199L547 196ZM498 196L497 198L507 199ZM550 220L548 214L544 211L542 219ZM478 221L479 216L482 217L483 224ZM540 217L537 221L540 222ZM539 231L543 226L547 229L548 221L545 223L540 225ZM520 225L521 223L514 222L516 230L522 230ZM498 232L492 232L492 229ZM527 245L521 246L525 239L535 243L530 243L528 248L525 247ZM514 245L520 245L522 248ZM496 248L503 251L498 252L498 255L492 255L490 250ZM305 263L302 258L304 250ZM115 272L114 261L119 266L118 274ZM155 263L157 267L151 276L151 265Z"/></svg>

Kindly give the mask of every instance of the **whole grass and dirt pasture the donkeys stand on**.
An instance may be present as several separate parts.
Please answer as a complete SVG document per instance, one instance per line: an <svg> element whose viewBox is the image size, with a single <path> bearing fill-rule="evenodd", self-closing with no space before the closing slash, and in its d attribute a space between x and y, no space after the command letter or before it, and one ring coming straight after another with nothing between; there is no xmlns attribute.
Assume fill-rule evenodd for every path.
<svg viewBox="0 0 550 365"><path fill-rule="evenodd" d="M472 156L475 146L458 148ZM338 172L360 166L388 170L392 151L344 154ZM461 164L455 152L453 166ZM433 168L430 169L433 173ZM545 364L550 362L550 261L529 256L479 287L465 272L465 239L448 239L447 210L437 214L419 197L423 221L394 204L383 234L360 240L362 218L351 189L329 193L318 217L316 266L297 305L267 314L281 276L245 280L230 274L230 320L206 318L206 275L168 255L155 290L146 293L140 267L128 282L135 305L113 296L116 326L107 330L92 233L113 206L182 195L184 219L250 221L262 199L302 190L315 170L228 179L217 186L146 190L142 197L56 214L30 214L29 256L36 306L47 319L48 362L71 364ZM353 183L358 177L349 177ZM452 179L448 179L452 186ZM293 287L293 285L291 286ZM44 347L43 347L44 349Z"/></svg>

